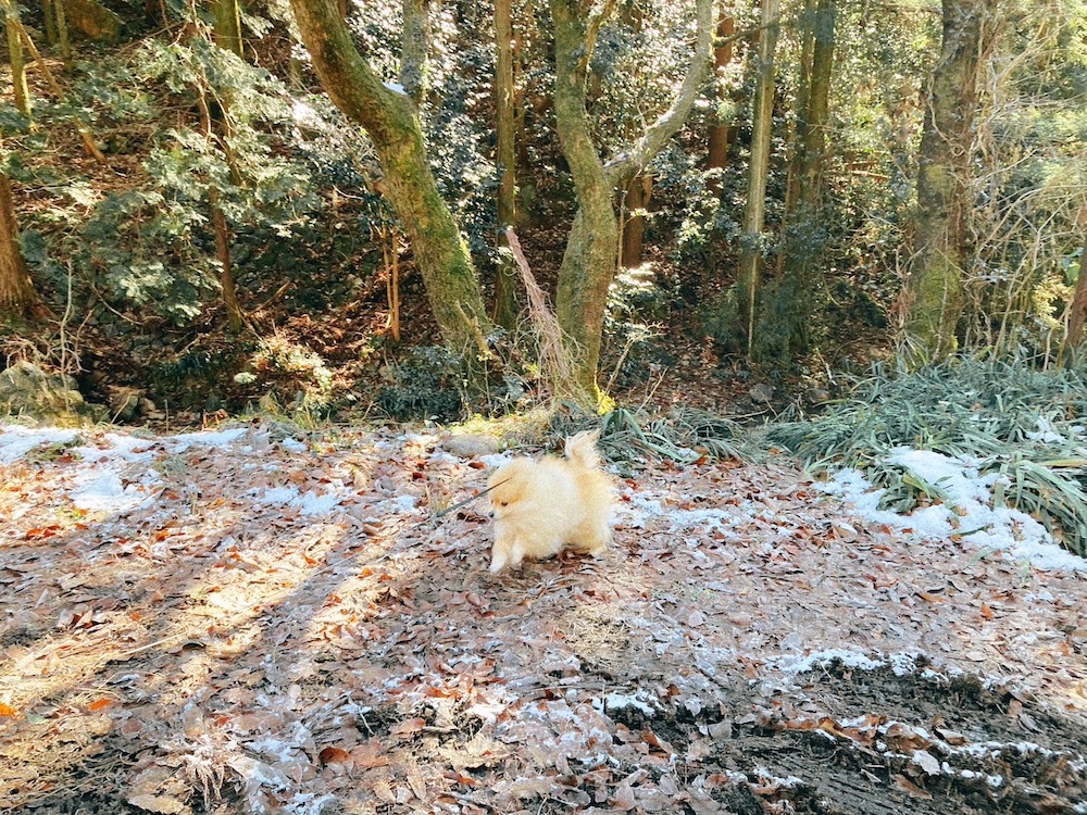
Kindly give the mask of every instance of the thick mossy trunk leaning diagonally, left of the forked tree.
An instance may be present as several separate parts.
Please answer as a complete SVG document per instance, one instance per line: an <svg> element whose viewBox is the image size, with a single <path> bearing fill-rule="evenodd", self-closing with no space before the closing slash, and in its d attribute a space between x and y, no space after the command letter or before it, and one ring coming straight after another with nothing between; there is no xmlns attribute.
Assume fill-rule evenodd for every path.
<svg viewBox="0 0 1087 815"><path fill-rule="evenodd" d="M291 0L291 7L325 90L373 141L384 192L411 239L442 340L457 352L482 352L490 321L467 243L427 163L415 105L359 53L335 0Z"/></svg>

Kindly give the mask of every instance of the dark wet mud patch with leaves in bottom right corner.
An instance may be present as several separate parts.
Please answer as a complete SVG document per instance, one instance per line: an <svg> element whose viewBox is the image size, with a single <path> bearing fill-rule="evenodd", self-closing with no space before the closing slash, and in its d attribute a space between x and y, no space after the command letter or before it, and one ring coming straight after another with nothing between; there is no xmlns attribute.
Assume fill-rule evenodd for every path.
<svg viewBox="0 0 1087 815"><path fill-rule="evenodd" d="M621 740L637 735L673 756L648 782L674 774L673 800L694 815L1087 812L1082 725L977 677L832 663L749 701L747 712L605 712Z"/></svg>

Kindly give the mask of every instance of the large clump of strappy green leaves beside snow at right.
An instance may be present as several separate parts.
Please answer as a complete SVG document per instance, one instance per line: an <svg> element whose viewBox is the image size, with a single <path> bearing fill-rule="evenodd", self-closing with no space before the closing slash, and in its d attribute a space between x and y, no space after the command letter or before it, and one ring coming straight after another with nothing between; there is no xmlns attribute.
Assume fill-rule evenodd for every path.
<svg viewBox="0 0 1087 815"><path fill-rule="evenodd" d="M898 447L977 462L1002 476L1003 500L1087 553L1087 374L1024 362L955 359L898 375L877 368L825 415L772 425L808 466L851 466L887 489L883 505L944 500L938 485L887 460Z"/></svg>

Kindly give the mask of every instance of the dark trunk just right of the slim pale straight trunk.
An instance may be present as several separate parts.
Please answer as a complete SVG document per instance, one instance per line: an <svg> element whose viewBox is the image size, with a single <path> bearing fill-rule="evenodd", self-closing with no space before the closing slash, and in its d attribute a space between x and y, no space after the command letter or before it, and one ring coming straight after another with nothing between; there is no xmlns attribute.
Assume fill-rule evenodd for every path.
<svg viewBox="0 0 1087 815"><path fill-rule="evenodd" d="M765 293L762 325L755 342L760 362L787 363L810 347L811 315L826 228L823 217L823 171L829 118L830 74L834 66L835 0L812 4L805 49L803 96L797 100L796 149L789 173L782 273Z"/></svg>

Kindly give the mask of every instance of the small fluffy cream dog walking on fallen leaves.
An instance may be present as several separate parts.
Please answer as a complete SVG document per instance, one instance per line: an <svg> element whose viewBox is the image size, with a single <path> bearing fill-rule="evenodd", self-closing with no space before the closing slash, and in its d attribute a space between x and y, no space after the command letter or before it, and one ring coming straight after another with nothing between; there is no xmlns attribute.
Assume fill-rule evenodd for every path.
<svg viewBox="0 0 1087 815"><path fill-rule="evenodd" d="M514 459L488 479L495 518L491 572L563 549L596 554L608 546L615 487L600 469L599 437L579 432L566 439L565 459Z"/></svg>

